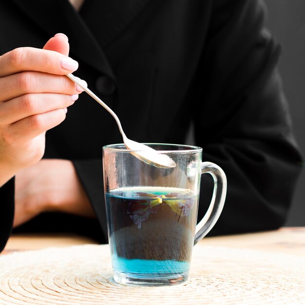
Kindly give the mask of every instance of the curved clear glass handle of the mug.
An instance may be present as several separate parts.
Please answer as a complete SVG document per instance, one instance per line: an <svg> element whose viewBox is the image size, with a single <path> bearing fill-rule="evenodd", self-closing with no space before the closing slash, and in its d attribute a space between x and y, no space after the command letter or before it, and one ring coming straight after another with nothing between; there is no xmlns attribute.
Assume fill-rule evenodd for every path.
<svg viewBox="0 0 305 305"><path fill-rule="evenodd" d="M227 177L218 165L202 162L201 173L210 173L214 179L214 190L209 209L196 226L194 245L205 237L216 224L224 207L227 193Z"/></svg>

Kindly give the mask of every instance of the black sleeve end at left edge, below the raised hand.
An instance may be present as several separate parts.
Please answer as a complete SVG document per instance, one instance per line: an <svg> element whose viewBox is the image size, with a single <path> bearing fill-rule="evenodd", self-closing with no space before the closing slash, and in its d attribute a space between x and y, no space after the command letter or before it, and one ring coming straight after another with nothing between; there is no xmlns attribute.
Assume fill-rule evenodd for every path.
<svg viewBox="0 0 305 305"><path fill-rule="evenodd" d="M0 188L0 252L6 245L13 228L15 179Z"/></svg>

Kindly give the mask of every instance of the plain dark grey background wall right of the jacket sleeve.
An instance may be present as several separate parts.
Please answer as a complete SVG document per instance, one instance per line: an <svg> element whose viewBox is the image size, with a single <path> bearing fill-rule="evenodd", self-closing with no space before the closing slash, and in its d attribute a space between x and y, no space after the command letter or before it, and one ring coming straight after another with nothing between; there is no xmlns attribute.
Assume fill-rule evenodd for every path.
<svg viewBox="0 0 305 305"><path fill-rule="evenodd" d="M279 69L294 133L305 155L305 0L266 0L265 3L268 8L268 28L282 44ZM286 226L305 226L304 199L303 166Z"/></svg>

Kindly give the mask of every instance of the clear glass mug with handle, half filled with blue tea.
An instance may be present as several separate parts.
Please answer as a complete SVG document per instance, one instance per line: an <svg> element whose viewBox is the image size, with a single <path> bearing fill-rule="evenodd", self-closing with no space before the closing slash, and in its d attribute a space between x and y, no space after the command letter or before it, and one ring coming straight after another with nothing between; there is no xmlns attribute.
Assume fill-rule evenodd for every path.
<svg viewBox="0 0 305 305"><path fill-rule="evenodd" d="M227 179L223 170L202 162L202 148L147 144L165 153L174 168L139 160L124 144L103 147L103 174L114 281L135 285L172 285L187 280L193 246L218 220ZM206 215L198 223L202 173L214 179Z"/></svg>

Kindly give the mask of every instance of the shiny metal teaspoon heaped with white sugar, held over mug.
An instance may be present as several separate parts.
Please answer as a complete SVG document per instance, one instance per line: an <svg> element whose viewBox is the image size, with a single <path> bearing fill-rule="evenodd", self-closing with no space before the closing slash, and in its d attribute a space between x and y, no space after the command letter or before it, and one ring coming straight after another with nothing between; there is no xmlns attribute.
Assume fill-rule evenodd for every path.
<svg viewBox="0 0 305 305"><path fill-rule="evenodd" d="M74 76L72 73L67 74L67 76L73 80L79 87L81 87L87 94L93 97L100 105L102 105L115 119L118 129L123 137L123 142L127 149L132 150L132 154L140 159L141 161L150 164L155 167L160 168L173 168L176 166L176 163L166 154L159 153L158 151L154 150L153 148L138 143L136 141L130 140L123 131L122 125L120 120L118 119L117 115L114 111L108 107L97 95L95 95L88 87L87 83Z"/></svg>

